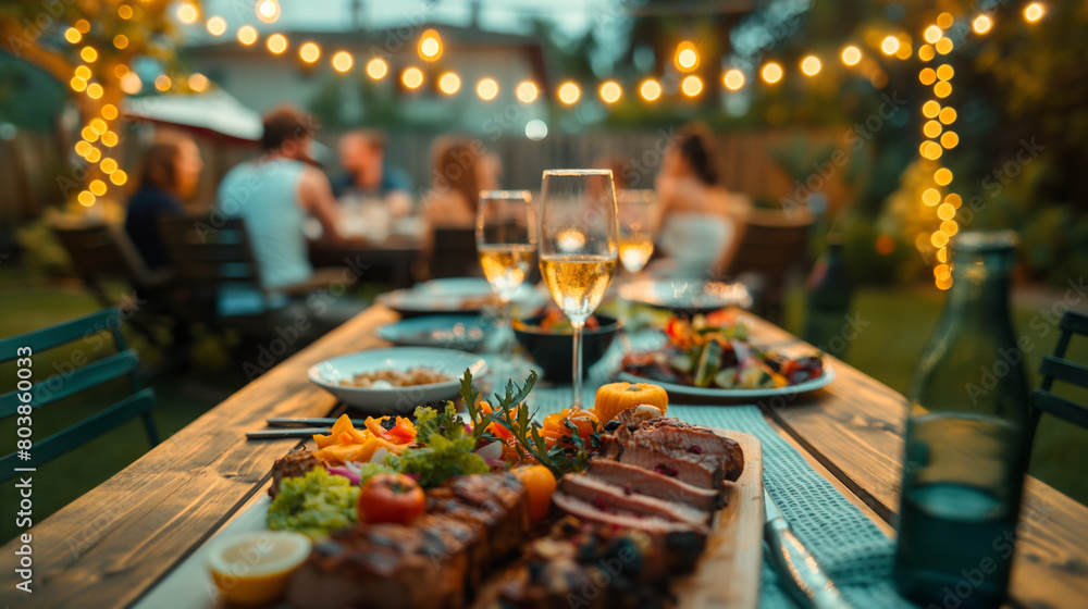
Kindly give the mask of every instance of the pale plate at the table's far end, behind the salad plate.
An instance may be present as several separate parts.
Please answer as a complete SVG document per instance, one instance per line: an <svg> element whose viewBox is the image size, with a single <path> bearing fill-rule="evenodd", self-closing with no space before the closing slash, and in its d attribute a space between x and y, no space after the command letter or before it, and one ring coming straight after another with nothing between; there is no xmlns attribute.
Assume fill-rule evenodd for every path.
<svg viewBox="0 0 1088 609"><path fill-rule="evenodd" d="M743 284L701 279L641 279L620 286L619 296L631 302L673 311L709 312L724 307L752 307L752 295Z"/></svg>

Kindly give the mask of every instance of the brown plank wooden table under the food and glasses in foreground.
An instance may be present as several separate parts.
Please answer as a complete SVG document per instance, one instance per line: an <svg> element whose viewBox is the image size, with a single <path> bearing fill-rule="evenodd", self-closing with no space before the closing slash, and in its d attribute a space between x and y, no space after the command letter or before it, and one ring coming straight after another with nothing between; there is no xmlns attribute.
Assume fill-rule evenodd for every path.
<svg viewBox="0 0 1088 609"><path fill-rule="evenodd" d="M125 607L138 599L263 490L272 461L296 440L247 442L268 417L320 417L334 399L306 378L323 359L382 346L396 314L374 307L275 366L124 471L30 530L34 593L14 591L17 543L3 548L8 607ZM758 341L798 344L757 322ZM765 405L768 418L814 468L891 533L898 507L903 397L843 362L827 389ZM37 480L44 486L47 480ZM14 505L7 500L4 505ZM1013 606L1088 605L1088 509L1029 480Z"/></svg>

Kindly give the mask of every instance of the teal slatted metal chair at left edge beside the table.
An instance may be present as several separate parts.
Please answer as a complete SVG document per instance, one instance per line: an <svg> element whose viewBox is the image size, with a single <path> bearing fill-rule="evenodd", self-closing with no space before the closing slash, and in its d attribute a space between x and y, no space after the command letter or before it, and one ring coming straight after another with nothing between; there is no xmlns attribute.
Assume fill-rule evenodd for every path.
<svg viewBox="0 0 1088 609"><path fill-rule="evenodd" d="M33 376L33 388L29 390L32 417L40 417L40 409L44 406L57 402L64 398L74 396L92 387L97 387L107 382L126 377L128 380L132 395L125 399L108 407L99 412L79 421L55 434L37 439L39 436L32 433L33 446L28 451L29 460L23 460L18 451L0 458L0 482L5 482L15 477L17 472L14 468L35 468L47 461L73 450L96 437L121 426L124 423L139 417L144 421L144 430L151 446L159 444L159 432L154 427L151 419L151 408L154 406L154 393L150 388L140 386L137 373L139 372L139 357L136 351L126 348L124 335L121 333L122 316L118 308L111 307L72 321L59 323L57 325L0 339L0 363L15 361L18 369L29 368ZM90 337L109 332L118 352L104 359L88 363L72 372L58 374L48 378L41 378L42 370L40 358L37 356L49 349L61 345L86 340L89 344ZM26 347L32 351L29 362L22 361L27 357ZM89 348L89 347L88 347ZM21 350L22 349L22 350ZM95 349L98 350L98 349ZM26 364L30 365L27 366ZM0 396L0 419L18 417L18 407L25 401L26 391L20 391L17 386L14 391ZM16 421L18 425L18 422ZM23 425L18 425L23 426ZM34 430L34 425L30 425Z"/></svg>

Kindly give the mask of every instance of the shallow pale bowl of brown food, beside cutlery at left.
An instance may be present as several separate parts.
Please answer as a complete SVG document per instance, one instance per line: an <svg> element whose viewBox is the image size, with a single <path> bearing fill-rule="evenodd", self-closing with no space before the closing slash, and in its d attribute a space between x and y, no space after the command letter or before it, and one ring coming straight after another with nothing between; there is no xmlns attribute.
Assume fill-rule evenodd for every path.
<svg viewBox="0 0 1088 609"><path fill-rule="evenodd" d="M351 378L356 374L379 370L406 372L412 368L430 368L450 378L443 383L393 387L391 389L348 387L339 384L341 380ZM460 387L460 378L465 369L471 370L472 376L480 376L487 370L487 364L483 358L465 351L428 347L394 347L392 349L371 349L325 360L310 366L308 376L310 381L330 394L366 414L411 414L416 407L421 403L455 397Z"/></svg>

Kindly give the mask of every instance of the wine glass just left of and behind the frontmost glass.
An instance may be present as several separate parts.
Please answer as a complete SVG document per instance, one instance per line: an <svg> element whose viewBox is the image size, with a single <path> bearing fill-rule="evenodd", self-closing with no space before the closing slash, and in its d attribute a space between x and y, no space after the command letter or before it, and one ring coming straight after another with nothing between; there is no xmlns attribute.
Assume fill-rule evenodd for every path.
<svg viewBox="0 0 1088 609"><path fill-rule="evenodd" d="M510 300L536 258L536 213L528 190L483 190L477 210L477 253L492 290L498 295L500 366L512 364ZM511 370L512 372L512 370ZM496 373L502 371L496 370Z"/></svg>

